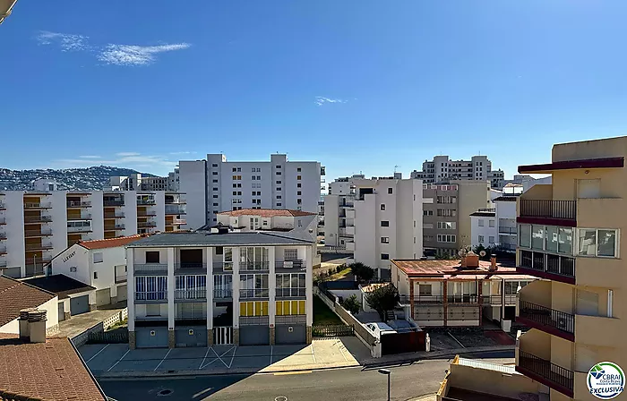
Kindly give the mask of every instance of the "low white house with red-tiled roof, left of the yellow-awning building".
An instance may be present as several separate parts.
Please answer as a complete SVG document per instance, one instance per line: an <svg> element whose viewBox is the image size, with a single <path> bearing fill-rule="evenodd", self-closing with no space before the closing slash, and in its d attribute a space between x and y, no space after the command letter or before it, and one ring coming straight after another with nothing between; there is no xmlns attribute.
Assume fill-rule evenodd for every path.
<svg viewBox="0 0 627 401"><path fill-rule="evenodd" d="M141 238L142 235L131 235L74 243L53 258L49 272L72 277L96 288L96 307L125 301L125 245Z"/></svg>

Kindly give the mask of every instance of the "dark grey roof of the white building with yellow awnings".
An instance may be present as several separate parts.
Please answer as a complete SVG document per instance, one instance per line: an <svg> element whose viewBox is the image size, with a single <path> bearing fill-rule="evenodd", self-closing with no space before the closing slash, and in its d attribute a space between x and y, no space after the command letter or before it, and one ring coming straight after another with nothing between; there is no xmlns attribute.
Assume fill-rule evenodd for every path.
<svg viewBox="0 0 627 401"><path fill-rule="evenodd" d="M178 232L150 235L128 248L162 248L167 246L250 246L250 245L311 245L314 239L305 231L288 233L248 231L227 234L206 232Z"/></svg>

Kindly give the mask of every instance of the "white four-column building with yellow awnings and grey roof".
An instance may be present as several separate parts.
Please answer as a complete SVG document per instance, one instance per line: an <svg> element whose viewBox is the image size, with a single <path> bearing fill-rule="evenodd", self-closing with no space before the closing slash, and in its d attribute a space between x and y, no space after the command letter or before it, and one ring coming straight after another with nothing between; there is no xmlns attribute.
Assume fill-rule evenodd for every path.
<svg viewBox="0 0 627 401"><path fill-rule="evenodd" d="M314 241L185 232L126 248L131 348L310 344Z"/></svg>

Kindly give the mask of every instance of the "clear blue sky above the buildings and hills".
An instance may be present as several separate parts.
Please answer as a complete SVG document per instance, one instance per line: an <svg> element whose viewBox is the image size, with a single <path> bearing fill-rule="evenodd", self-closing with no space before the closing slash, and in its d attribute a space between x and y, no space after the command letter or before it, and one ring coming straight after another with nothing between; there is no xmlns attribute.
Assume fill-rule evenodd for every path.
<svg viewBox="0 0 627 401"><path fill-rule="evenodd" d="M405 175L627 134L627 2L20 0L0 26L0 166L320 160Z"/></svg>

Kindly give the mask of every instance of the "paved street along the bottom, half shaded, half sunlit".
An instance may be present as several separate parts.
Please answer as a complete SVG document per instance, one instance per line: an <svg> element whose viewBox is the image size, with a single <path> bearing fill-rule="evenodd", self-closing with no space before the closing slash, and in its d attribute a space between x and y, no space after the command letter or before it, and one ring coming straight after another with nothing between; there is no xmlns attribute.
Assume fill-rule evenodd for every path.
<svg viewBox="0 0 627 401"><path fill-rule="evenodd" d="M510 353L480 355L496 363L511 363ZM506 359L501 359L506 358ZM391 366L391 397L408 400L434 393L450 359ZM295 373L217 375L167 380L101 380L108 397L118 401L142 400L321 400L381 401L387 382L376 368L347 368ZM166 390L167 396L159 395ZM169 390L169 391L168 391Z"/></svg>

